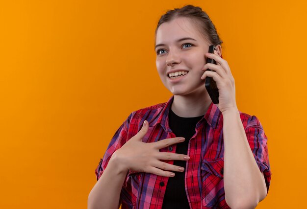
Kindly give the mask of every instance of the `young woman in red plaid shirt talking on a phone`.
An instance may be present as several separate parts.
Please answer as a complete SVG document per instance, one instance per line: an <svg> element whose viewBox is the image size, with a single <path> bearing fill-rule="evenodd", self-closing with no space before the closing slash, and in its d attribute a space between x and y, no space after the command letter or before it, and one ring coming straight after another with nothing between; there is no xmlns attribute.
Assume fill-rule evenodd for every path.
<svg viewBox="0 0 307 209"><path fill-rule="evenodd" d="M174 95L131 113L117 130L96 169L89 209L250 209L265 198L267 138L256 116L237 109L221 44L200 7L161 17L156 67ZM210 45L214 53L207 53ZM205 89L206 77L216 81L218 104Z"/></svg>

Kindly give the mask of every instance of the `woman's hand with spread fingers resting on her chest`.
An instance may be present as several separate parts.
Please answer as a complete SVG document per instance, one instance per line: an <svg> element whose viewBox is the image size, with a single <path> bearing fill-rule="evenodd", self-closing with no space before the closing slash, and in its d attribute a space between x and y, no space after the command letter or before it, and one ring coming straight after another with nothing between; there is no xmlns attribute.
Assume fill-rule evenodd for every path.
<svg viewBox="0 0 307 209"><path fill-rule="evenodd" d="M165 161L188 161L189 156L170 152L160 152L159 150L184 141L182 137L163 139L156 142L142 142L143 137L148 131L148 122L145 120L141 130L129 139L120 149L115 151L110 159L119 166L123 172L133 170L137 172L153 173L158 176L173 177L175 173L182 172L183 167L172 165Z"/></svg>

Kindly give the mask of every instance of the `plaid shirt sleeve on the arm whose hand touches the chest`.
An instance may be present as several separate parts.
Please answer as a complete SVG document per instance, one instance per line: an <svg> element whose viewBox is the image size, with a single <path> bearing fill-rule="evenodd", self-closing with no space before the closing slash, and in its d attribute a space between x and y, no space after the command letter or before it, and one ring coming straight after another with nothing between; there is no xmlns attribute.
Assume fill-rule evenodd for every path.
<svg viewBox="0 0 307 209"><path fill-rule="evenodd" d="M98 164L95 170L97 181L101 177L113 153L119 148L121 148L127 142L129 120L130 120L131 115L132 114L130 114L127 120L117 129L117 131L115 132L113 138L111 139L104 153L103 158L100 159L100 163Z"/></svg>

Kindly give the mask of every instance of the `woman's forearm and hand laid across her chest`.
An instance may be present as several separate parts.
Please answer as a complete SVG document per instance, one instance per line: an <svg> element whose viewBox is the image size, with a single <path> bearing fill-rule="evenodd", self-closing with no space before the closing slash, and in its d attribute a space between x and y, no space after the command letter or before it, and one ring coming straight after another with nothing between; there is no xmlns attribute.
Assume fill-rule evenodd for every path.
<svg viewBox="0 0 307 209"><path fill-rule="evenodd" d="M145 143L143 137L148 131L148 122L145 121L141 130L114 153L114 143L111 140L107 155L104 159L113 155L100 176L98 182L88 196L88 209L117 209L120 203L120 193L128 170L153 173L159 176L174 177L171 171L183 172L182 167L161 162L161 160L188 161L189 157L176 153L159 152L169 145L184 141L183 138L163 139L160 141ZM123 135L126 138L126 134ZM117 134L113 138L116 142ZM106 162L106 160L104 160ZM102 166L103 168L104 166ZM100 175L100 174L98 174Z"/></svg>

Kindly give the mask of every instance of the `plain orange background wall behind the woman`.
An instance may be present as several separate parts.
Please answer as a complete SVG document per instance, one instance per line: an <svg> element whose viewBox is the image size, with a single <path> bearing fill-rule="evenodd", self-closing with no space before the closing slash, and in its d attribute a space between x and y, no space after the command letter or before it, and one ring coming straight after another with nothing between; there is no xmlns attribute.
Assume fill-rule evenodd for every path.
<svg viewBox="0 0 307 209"><path fill-rule="evenodd" d="M257 208L306 205L306 0L2 0L0 208L86 208L117 128L171 96L153 34L188 3L216 25L238 108L268 137L272 182Z"/></svg>

